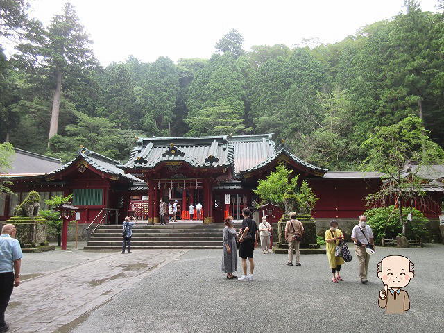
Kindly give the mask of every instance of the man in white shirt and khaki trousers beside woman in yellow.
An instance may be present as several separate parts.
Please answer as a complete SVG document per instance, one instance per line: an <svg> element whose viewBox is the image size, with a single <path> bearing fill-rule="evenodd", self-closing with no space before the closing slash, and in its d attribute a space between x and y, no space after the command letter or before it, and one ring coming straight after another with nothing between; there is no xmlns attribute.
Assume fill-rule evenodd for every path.
<svg viewBox="0 0 444 333"><path fill-rule="evenodd" d="M370 246L375 250L375 242L373 241L373 232L370 225L367 225L367 217L359 216L359 224L355 225L352 231L352 241L355 242L355 253L359 263L359 278L362 284L367 284L368 263L370 255L366 251L366 247Z"/></svg>

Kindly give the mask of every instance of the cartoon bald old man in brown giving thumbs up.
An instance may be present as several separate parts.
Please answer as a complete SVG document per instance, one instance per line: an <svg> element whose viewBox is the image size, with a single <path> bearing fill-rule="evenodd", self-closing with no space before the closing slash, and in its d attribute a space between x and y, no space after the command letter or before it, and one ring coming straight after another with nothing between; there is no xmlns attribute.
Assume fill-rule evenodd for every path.
<svg viewBox="0 0 444 333"><path fill-rule="evenodd" d="M377 277L384 283L377 303L386 314L404 314L410 309L409 294L401 288L415 276L413 262L402 255L389 255L377 264Z"/></svg>

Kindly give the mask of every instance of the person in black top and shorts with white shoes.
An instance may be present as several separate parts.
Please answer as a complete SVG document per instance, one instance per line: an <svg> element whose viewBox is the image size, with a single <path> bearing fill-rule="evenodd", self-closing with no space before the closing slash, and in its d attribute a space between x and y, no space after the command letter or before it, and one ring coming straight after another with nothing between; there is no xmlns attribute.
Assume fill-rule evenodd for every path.
<svg viewBox="0 0 444 333"><path fill-rule="evenodd" d="M250 217L250 210L244 208L242 210L242 216L244 220L242 221L242 230L240 234L239 242L241 246L239 248L239 257L242 258L242 269L244 270L244 275L242 275L239 281L253 281L253 271L255 270L255 262L253 261L253 252L257 246L257 225ZM247 275L247 258L250 262L250 274Z"/></svg>

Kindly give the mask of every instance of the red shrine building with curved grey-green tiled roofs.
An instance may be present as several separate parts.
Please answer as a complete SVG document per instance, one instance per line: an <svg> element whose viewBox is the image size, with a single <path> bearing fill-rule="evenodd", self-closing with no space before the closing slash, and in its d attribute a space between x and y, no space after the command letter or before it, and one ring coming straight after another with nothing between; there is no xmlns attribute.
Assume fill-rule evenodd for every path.
<svg viewBox="0 0 444 333"><path fill-rule="evenodd" d="M138 139L124 163L87 148L65 165L16 149L12 170L1 175L12 180L15 196L0 195L0 219L8 219L15 205L35 190L42 198L41 209L47 208L46 198L73 194L79 223L92 223L105 215L110 223L121 223L128 215L159 223L160 199L171 205L178 201L178 219L191 219L189 206L193 205L192 219L222 223L228 215L241 219L244 207L257 207L259 198L253 189L279 163L314 190L319 200L313 213L318 219L355 219L366 210L364 197L382 185L379 172L332 172L300 160L284 144L273 141L272 134L150 137ZM444 177L442 166L434 167L439 174L428 178L430 200L418 207L432 218L441 214L444 186L435 179ZM197 216L199 203L203 208ZM272 214L273 207L263 207L261 215Z"/></svg>

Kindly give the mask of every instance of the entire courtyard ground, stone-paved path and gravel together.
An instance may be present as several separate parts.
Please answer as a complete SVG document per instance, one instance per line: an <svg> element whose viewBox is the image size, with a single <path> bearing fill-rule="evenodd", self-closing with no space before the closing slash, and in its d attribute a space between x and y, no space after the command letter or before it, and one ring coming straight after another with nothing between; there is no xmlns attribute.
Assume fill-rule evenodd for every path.
<svg viewBox="0 0 444 333"><path fill-rule="evenodd" d="M405 315L377 306L376 264L391 254L416 267ZM291 267L285 255L255 250L255 281L238 282L220 272L221 250L73 250L71 266L15 289L6 316L11 332L443 332L443 254L440 244L379 247L364 286L355 256L343 266L345 281L333 284L325 255L302 255L302 266ZM24 273L68 253L37 255L25 255Z"/></svg>

